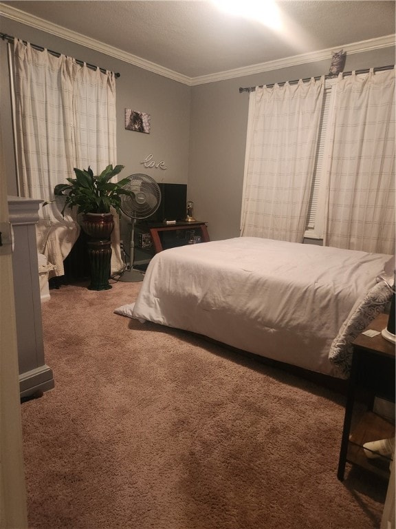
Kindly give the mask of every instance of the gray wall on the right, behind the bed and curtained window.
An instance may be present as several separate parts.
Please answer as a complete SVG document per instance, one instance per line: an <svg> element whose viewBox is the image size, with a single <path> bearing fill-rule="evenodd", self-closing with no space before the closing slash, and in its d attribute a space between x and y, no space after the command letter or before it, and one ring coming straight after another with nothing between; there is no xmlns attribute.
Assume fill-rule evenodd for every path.
<svg viewBox="0 0 396 529"><path fill-rule="evenodd" d="M326 74L329 61L192 87L188 198L213 240L239 236L249 87ZM395 49L347 55L345 71L395 63Z"/></svg>

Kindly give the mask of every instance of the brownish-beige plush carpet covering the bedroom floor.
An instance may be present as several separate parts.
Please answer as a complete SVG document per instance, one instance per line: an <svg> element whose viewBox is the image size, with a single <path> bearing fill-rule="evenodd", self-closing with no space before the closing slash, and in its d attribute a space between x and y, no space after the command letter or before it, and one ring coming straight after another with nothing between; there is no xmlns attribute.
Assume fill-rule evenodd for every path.
<svg viewBox="0 0 396 529"><path fill-rule="evenodd" d="M380 526L385 484L336 477L342 395L115 315L139 288L43 304L56 386L22 405L30 528Z"/></svg>

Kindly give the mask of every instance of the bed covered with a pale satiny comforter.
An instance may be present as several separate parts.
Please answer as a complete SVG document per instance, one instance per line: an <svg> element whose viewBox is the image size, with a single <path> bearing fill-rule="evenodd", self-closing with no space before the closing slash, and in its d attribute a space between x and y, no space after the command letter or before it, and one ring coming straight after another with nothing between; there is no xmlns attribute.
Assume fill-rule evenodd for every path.
<svg viewBox="0 0 396 529"><path fill-rule="evenodd" d="M154 256L136 302L115 312L346 378L353 332L391 298L391 259L254 237L177 247Z"/></svg>

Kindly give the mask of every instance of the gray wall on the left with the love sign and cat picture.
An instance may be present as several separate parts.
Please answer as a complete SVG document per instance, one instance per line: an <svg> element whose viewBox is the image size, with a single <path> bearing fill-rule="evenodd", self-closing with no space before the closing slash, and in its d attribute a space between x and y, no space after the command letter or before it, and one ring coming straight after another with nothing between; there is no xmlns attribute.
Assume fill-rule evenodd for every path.
<svg viewBox="0 0 396 529"><path fill-rule="evenodd" d="M0 24L3 33L120 72L116 81L118 160L115 160L125 165L120 177L144 173L157 182L187 183L190 87L5 17L0 17ZM0 52L0 112L8 194L16 195L7 55L6 45L1 41ZM126 130L125 108L151 114L151 134ZM157 162L164 160L168 169L144 167L140 162L149 154Z"/></svg>

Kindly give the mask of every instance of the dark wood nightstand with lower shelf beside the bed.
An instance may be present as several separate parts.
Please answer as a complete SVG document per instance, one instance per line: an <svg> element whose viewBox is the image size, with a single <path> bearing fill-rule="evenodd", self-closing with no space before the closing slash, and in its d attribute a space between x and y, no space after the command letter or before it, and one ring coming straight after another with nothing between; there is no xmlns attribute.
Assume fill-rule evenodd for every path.
<svg viewBox="0 0 396 529"><path fill-rule="evenodd" d="M388 315L380 314L367 329L382 331L388 323ZM367 330L366 329L366 330ZM351 433L351 422L355 395L358 388L371 397L369 411L361 418ZM337 477L344 479L345 464L356 464L377 475L388 478L391 459L380 457L369 459L362 445L366 442L395 436L395 425L371 411L375 396L395 402L395 344L385 340L381 334L370 338L362 333L353 342L351 376L349 379L344 428L338 461Z"/></svg>

